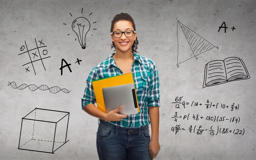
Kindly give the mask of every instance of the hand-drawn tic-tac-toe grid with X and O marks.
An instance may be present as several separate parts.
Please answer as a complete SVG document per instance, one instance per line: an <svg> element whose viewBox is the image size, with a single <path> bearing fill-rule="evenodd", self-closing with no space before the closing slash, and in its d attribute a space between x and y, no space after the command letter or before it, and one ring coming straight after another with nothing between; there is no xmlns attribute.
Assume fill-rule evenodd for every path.
<svg viewBox="0 0 256 160"><path fill-rule="evenodd" d="M43 65L43 67L44 67L43 59L47 59L47 58L51 57L51 56L47 56L47 57L43 57L43 58L42 58L42 56L47 55L48 51L47 51L46 49L44 49L43 51L40 52L40 50L41 50L41 48L47 47L47 45L44 45L43 39L42 39L41 41L38 41L38 42L40 42L39 47L38 47L38 43L36 42L36 39L35 39L36 48L29 50L28 47L27 47L26 41L25 41L26 51L25 51L25 52L22 52L22 53L20 53L20 54L18 54L18 55L21 55L21 54L24 54L24 53L28 53L30 62L29 62L29 63L26 63L25 65L31 64L32 67L33 67L34 73L35 73L35 67L34 67L34 64L33 64L34 62L36 62L36 61L41 61L41 62L42 62L42 65ZM41 45L43 45L43 46L41 46ZM24 51L25 46L22 45L22 46L20 47L20 51ZM39 50L39 48L40 48L40 50ZM38 53L37 53L37 52L38 52ZM30 53L31 53L31 54L30 54ZM42 53L43 55L41 55L41 53ZM33 58L32 58L32 56L33 56ZM25 65L22 65L22 66L25 66ZM44 70L46 70L45 67L44 67ZM28 71L30 72L29 67L26 68L26 73L27 73ZM35 75L36 75L36 73L35 73Z"/></svg>

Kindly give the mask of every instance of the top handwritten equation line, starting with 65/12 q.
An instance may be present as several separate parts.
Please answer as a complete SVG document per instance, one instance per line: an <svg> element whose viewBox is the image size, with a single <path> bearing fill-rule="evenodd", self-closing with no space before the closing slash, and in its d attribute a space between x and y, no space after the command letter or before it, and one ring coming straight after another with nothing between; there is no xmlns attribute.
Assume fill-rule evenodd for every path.
<svg viewBox="0 0 256 160"><path fill-rule="evenodd" d="M231 105L223 104L223 103L213 103L210 102L209 99L205 103L198 102L198 101L192 101L192 102L186 102L182 101L182 97L176 97L175 102L172 102L172 104L175 104L175 108L186 108L186 107L205 107L206 109L209 108L221 108L221 109L230 109L231 111L238 110L239 104L232 103Z"/></svg>

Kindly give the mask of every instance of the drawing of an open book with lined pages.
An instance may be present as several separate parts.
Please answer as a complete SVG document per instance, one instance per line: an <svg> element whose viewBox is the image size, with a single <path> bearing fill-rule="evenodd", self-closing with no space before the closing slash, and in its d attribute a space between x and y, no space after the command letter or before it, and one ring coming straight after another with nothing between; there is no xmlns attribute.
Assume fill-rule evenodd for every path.
<svg viewBox="0 0 256 160"><path fill-rule="evenodd" d="M241 59L215 60L205 65L203 88L242 79L250 79L250 76Z"/></svg>

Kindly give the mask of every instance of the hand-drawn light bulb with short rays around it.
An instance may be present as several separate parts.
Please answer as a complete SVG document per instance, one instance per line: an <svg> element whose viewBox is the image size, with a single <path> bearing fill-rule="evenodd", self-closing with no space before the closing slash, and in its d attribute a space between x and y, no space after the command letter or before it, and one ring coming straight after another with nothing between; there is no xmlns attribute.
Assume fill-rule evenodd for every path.
<svg viewBox="0 0 256 160"><path fill-rule="evenodd" d="M84 8L82 8L81 14L83 13L83 9ZM90 15L91 14L92 13L90 13ZM70 13L70 16L72 17L71 13ZM96 23L96 22L93 22L93 23ZM63 23L63 24L67 25L66 23ZM81 48L85 49L86 48L85 38L86 38L87 33L90 31L90 28L91 28L89 20L85 17L78 17L75 20L73 20L73 22L71 24L71 28L76 33L76 36L79 40ZM93 30L96 30L96 28L93 28ZM70 34L68 34L68 35L70 35Z"/></svg>

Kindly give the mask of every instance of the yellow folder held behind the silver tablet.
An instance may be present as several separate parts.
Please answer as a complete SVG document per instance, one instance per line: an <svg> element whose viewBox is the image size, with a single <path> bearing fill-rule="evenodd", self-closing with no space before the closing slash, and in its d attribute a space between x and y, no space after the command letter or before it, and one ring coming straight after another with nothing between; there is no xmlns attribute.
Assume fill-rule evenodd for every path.
<svg viewBox="0 0 256 160"><path fill-rule="evenodd" d="M104 79L93 80L92 81L93 90L94 90L98 109L100 111L106 113L104 98L103 98L103 93L102 93L103 88L113 87L113 86L122 85L122 84L129 84L129 83L134 84L132 73L126 73L126 74L122 74L119 76L112 76L112 77L108 77L108 78L104 78ZM134 89L135 89L135 85L134 85ZM136 92L135 92L135 95L136 95L136 102L137 102L137 106L138 106L137 109L138 109L138 112L140 112L140 107L138 104Z"/></svg>

